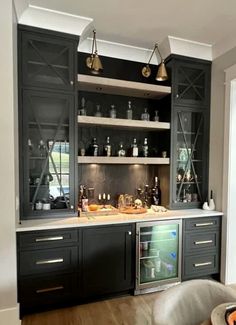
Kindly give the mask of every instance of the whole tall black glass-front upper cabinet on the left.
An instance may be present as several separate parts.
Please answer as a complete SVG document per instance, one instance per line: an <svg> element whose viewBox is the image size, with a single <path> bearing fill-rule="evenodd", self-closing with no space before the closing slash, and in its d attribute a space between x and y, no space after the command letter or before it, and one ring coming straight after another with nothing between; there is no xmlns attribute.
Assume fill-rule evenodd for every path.
<svg viewBox="0 0 236 325"><path fill-rule="evenodd" d="M19 25L21 219L77 214L78 38Z"/></svg>

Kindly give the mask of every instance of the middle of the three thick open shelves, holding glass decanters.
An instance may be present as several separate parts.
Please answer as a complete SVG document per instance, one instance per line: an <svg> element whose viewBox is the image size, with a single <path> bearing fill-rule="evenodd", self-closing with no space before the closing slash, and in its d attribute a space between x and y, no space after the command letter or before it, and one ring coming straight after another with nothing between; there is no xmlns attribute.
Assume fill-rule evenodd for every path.
<svg viewBox="0 0 236 325"><path fill-rule="evenodd" d="M81 125L103 125L107 127L118 128L132 128L132 129L148 129L150 131L168 130L170 129L170 123L167 122L153 122L153 121L141 121L141 120L127 120L121 118L110 117L96 117L96 116L82 116L78 115L78 123Z"/></svg>

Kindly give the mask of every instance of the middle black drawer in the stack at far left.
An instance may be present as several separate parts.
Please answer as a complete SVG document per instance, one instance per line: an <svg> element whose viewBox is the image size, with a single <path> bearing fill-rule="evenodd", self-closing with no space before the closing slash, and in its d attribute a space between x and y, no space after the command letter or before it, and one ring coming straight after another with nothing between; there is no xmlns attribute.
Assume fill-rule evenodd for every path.
<svg viewBox="0 0 236 325"><path fill-rule="evenodd" d="M20 252L20 275L69 271L77 266L77 247Z"/></svg>

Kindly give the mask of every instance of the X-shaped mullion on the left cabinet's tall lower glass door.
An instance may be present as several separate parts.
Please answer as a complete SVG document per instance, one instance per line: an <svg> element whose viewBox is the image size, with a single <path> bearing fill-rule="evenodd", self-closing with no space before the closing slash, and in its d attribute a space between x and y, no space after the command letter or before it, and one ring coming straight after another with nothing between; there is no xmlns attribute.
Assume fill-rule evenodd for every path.
<svg viewBox="0 0 236 325"><path fill-rule="evenodd" d="M44 137L43 137L43 132L42 132L42 128L41 128L41 125L40 125L40 122L38 120L38 118L36 117L36 114L35 114L35 111L34 111L34 106L32 105L32 101L31 101L31 98L29 97L29 100L31 102L31 107L32 107L32 112L33 112L33 117L36 121L36 124L37 124L37 127L38 127L38 131L39 131L39 135L40 135L40 138L44 141ZM60 185L60 188L61 188L61 191L62 191L62 194L63 194L63 197L64 197L64 200L66 202L66 206L68 208L68 203L67 203L67 200L66 200L66 196L65 196L65 192L64 192L64 189L63 189L63 186L61 184L61 181L60 181L60 178L59 178L59 175L58 175L58 172L57 172L57 168L56 168L56 165L54 163L54 160L53 160L53 157L52 157L52 150L53 150L53 147L54 147L54 144L56 142L56 138L57 138L57 135L58 135L58 132L62 126L62 122L63 122L63 117L64 117L64 114L65 114L65 111L62 112L61 114L61 117L60 117L60 120L59 120L59 123L58 123L58 126L57 126L57 129L55 131L55 135L54 135L54 138L53 138L53 144L50 148L50 150L48 150L47 146L45 146L45 149L46 149L46 152L47 152L47 157L45 159L45 162L44 162L44 165L43 165L43 168L42 168L42 172L41 172L41 175L40 175L40 178L39 178L39 183L37 185L37 188L35 190L35 193L34 193L34 196L33 196L33 199L32 199L32 204L34 205L35 203L35 200L37 198L37 195L38 195L38 191L39 191L39 188L40 188L40 185L42 183L42 179L43 179L43 176L44 176L44 173L46 171L46 167L47 167L47 164L48 164L48 161L49 161L49 157L51 159L51 162L52 162L52 165L53 165L53 169L54 169L54 172L56 174L56 177L57 177L57 181L58 181L58 184ZM44 141L45 143L45 141Z"/></svg>

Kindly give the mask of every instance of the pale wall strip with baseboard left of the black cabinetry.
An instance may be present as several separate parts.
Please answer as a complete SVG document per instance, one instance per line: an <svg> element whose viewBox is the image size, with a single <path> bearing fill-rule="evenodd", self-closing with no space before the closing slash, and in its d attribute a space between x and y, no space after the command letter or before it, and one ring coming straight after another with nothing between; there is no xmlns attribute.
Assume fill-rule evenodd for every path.
<svg viewBox="0 0 236 325"><path fill-rule="evenodd" d="M16 24L12 1L4 1L0 11L0 324L19 322L16 298L16 81L13 69L13 39ZM14 31L14 33L13 33ZM13 38L14 35L14 38ZM15 52L16 54L16 52Z"/></svg>

